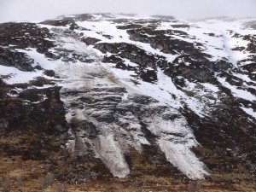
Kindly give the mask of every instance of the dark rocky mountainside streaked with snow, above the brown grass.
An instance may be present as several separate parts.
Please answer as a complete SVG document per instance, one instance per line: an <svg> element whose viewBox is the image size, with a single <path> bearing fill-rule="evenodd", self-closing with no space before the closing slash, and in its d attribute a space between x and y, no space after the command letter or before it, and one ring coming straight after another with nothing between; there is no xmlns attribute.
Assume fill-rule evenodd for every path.
<svg viewBox="0 0 256 192"><path fill-rule="evenodd" d="M85 166L56 173L73 182L86 170L88 178L146 174L139 157L165 170L160 177L214 183L237 174L253 183L255 35L253 20L163 16L0 24L1 134L55 135L55 150ZM45 146L57 142L36 141L37 154L15 155L49 162L45 152L57 152Z"/></svg>

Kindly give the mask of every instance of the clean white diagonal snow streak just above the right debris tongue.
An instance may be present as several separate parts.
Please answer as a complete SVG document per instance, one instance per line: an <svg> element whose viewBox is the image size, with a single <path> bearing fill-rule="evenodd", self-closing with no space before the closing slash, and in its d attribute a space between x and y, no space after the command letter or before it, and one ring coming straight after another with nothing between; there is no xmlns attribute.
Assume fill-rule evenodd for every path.
<svg viewBox="0 0 256 192"><path fill-rule="evenodd" d="M151 96L160 103L172 106L172 108L183 108L183 103L192 109L200 117L207 115L206 105L204 102L211 104L215 103L215 100L205 98L207 94L212 93L212 96L217 100L218 87L213 84L201 84L205 87L205 90L195 89L197 84L186 82L187 88L194 91L198 96L187 96L182 90L178 90L173 84L172 79L167 77L160 68L157 69L157 82L155 84L144 82L143 80L136 79L133 76L136 73L132 71L124 71L119 68L113 68L113 64L105 64L107 70L111 71L119 81L125 85L127 90L135 91L136 93ZM137 81L137 84L132 82ZM202 102L201 98L205 98Z"/></svg>

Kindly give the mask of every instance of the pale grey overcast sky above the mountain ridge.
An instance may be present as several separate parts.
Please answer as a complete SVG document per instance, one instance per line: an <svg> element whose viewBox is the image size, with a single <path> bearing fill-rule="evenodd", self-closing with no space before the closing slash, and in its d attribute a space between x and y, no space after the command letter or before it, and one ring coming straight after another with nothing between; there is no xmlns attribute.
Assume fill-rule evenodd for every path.
<svg viewBox="0 0 256 192"><path fill-rule="evenodd" d="M256 0L0 0L0 22L45 20L82 13L255 17Z"/></svg>

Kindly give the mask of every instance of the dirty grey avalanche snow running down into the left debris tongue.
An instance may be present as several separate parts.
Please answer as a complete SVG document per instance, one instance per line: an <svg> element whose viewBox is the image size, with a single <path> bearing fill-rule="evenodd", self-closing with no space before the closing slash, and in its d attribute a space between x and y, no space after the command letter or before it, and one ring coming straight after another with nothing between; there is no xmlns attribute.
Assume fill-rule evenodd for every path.
<svg viewBox="0 0 256 192"><path fill-rule="evenodd" d="M67 44L63 44L63 42L67 42ZM61 100L65 103L65 107L67 108L67 122L73 118L79 120L86 119L93 122L102 132L102 135L99 135L96 140L87 139L87 141L84 141L82 138L79 138L80 143L84 146L84 142L91 143L96 155L102 160L105 166L108 167L110 172L116 177L125 177L130 172L129 166L124 158L126 148L128 148L127 146L137 148L138 151L141 151L142 143L149 144L148 141L142 137L143 133L140 130L141 125L139 125L139 121L132 116L131 119L129 119L128 116L125 117L129 120L124 119L124 117L119 117L120 124L127 122L130 124L130 129L137 130L127 132L123 130L119 124L104 124L92 117L93 115L108 114L109 112L107 109L102 108L102 110L99 110L98 108L90 108L86 105L84 105L84 108L82 109L70 107L72 102L79 102L80 97L100 94L98 92L93 92L94 88L102 88L102 95L109 96L111 93L105 92L104 89L117 87L121 84L119 84L118 79L116 79L111 72L108 72L106 68L102 67L102 65L105 64L97 61L100 56L96 55L96 52L90 49L90 47L86 47L85 44L78 42L77 39L65 37L57 38L57 44L61 47L65 47L65 49L72 49L76 52L90 55L96 60L94 63L83 63L80 61L68 63L58 61L58 67L56 67L55 72L63 80L59 83L59 85L62 86ZM127 73L125 74L127 78L129 78L129 75L127 75ZM90 91L88 92L88 90ZM80 93L76 96L67 96L65 94L67 91L79 91ZM102 101L104 100L102 99ZM102 102L101 105L104 105L104 102ZM125 135L131 137L132 140L128 139L123 142L121 142L121 140L115 141L114 136L117 134L115 130L123 131ZM82 134L82 132L79 134ZM67 147L71 148L71 151L73 152L77 150L76 145L74 145L72 140L67 143ZM80 151L79 153L83 153L83 151Z"/></svg>

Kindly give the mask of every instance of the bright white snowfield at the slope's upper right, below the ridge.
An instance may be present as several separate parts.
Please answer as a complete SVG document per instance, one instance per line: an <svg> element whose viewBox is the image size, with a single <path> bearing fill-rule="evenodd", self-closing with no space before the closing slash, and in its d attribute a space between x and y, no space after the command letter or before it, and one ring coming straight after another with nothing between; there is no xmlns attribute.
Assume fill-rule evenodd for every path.
<svg viewBox="0 0 256 192"><path fill-rule="evenodd" d="M215 61L221 57L228 55L228 58L230 58L230 62L233 63L234 67L237 67L237 61L246 59L248 55L252 54L245 51L241 52L232 50L236 47L247 47L248 44L246 40L243 40L242 38L236 38L234 34L240 34L242 36L256 34L255 30L249 30L241 27L243 25L243 22L245 21L246 20L234 20L233 22L229 22L226 20L204 20L196 22L195 24L203 28L203 32L213 32L217 35L217 37L222 37L212 38L206 37L203 34L200 35L201 39L205 41L204 44L207 44L207 53L213 55ZM189 34L194 34L197 37L197 35L195 34L196 29L191 29L189 30ZM221 49L224 49L225 51L221 51Z"/></svg>

